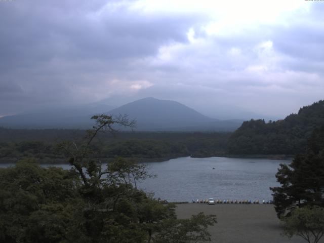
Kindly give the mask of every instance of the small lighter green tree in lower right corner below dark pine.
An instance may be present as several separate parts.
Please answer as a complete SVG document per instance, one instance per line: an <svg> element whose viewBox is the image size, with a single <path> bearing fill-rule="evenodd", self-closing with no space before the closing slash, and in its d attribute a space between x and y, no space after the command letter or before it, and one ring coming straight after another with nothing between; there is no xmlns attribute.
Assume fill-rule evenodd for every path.
<svg viewBox="0 0 324 243"><path fill-rule="evenodd" d="M289 238L298 235L308 243L317 243L324 235L324 208L296 208L283 222L284 234Z"/></svg>

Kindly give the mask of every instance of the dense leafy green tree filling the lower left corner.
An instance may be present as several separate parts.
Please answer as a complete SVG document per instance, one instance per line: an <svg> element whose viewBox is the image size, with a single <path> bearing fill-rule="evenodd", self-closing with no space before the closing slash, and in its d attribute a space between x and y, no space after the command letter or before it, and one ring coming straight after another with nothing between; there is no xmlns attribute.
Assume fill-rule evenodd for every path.
<svg viewBox="0 0 324 243"><path fill-rule="evenodd" d="M68 242L85 207L79 186L71 171L33 159L0 169L0 242Z"/></svg>

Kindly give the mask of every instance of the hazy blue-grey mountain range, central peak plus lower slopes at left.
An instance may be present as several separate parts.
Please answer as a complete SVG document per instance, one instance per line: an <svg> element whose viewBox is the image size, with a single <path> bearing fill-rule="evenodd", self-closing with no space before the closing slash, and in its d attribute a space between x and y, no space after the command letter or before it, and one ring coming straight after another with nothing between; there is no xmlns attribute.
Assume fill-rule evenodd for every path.
<svg viewBox="0 0 324 243"><path fill-rule="evenodd" d="M179 102L144 98L104 112L103 107L84 110L43 110L0 118L9 128L90 128L96 113L127 114L136 119L137 131L233 131L242 120L219 120L205 116ZM87 112L87 113L86 113Z"/></svg>

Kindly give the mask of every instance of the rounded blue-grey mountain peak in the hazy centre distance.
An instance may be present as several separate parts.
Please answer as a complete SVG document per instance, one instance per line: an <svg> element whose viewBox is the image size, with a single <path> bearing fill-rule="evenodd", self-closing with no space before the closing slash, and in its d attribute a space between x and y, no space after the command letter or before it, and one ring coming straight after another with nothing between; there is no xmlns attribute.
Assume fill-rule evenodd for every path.
<svg viewBox="0 0 324 243"><path fill-rule="evenodd" d="M108 112L136 119L137 131L233 131L242 120L210 118L179 102L144 98Z"/></svg>

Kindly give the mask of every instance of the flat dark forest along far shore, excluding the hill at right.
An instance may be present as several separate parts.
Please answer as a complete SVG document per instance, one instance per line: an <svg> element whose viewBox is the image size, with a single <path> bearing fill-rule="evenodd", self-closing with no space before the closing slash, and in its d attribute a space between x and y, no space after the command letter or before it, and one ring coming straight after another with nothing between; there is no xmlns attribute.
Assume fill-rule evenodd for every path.
<svg viewBox="0 0 324 243"><path fill-rule="evenodd" d="M15 162L35 157L41 163L64 163L55 144L82 140L84 130L0 129L0 161ZM93 156L132 157L138 161L159 161L180 156L206 157L225 154L230 133L120 132L100 134L93 143Z"/></svg>

